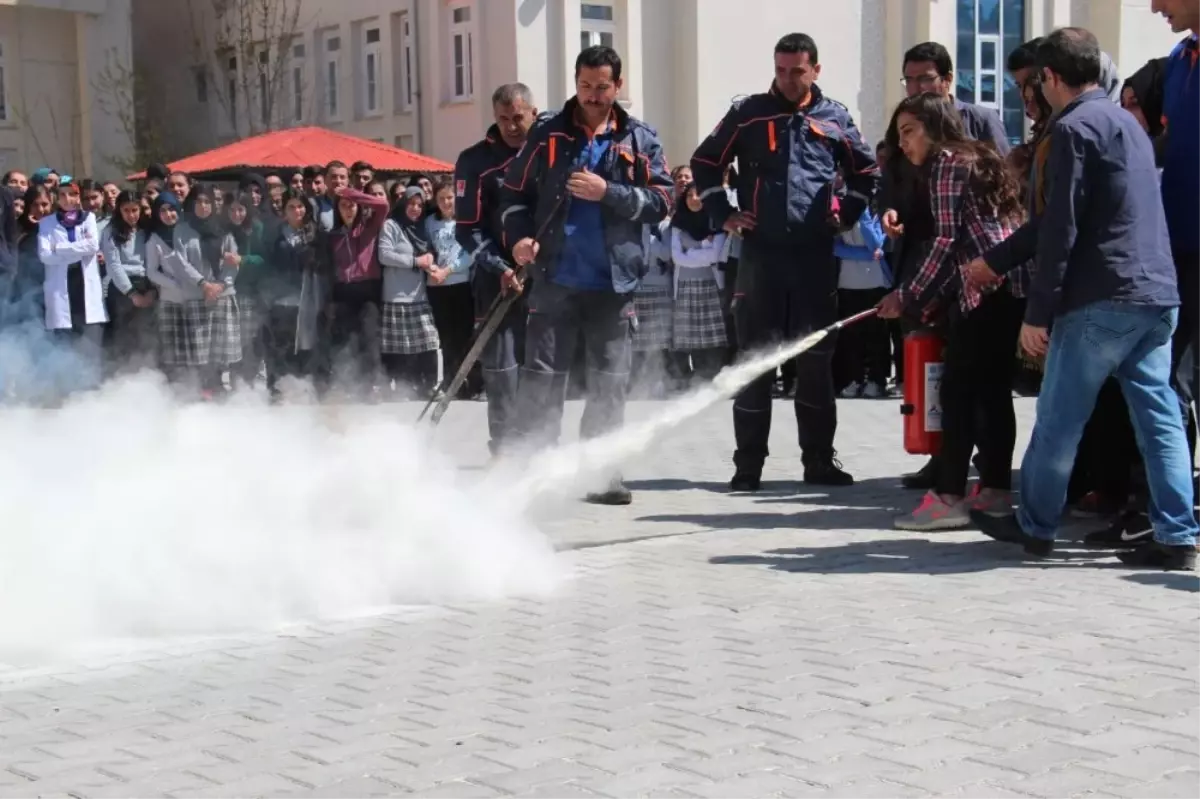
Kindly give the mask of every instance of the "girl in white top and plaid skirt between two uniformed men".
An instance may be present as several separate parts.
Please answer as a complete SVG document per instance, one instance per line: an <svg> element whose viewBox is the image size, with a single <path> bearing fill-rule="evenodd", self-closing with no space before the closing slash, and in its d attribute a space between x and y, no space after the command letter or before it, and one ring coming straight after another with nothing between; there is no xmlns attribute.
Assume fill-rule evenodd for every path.
<svg viewBox="0 0 1200 799"><path fill-rule="evenodd" d="M726 259L727 238L713 226L696 185L684 188L671 216L671 352L679 371L691 379L712 380L725 364L728 338L720 264Z"/></svg>

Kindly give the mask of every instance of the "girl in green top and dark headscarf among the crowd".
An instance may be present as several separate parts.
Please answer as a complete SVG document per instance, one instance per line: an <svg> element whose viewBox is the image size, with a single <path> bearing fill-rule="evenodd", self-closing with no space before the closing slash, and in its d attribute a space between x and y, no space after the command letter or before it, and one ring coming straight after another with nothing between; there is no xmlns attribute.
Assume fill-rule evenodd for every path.
<svg viewBox="0 0 1200 799"><path fill-rule="evenodd" d="M239 194L226 205L229 234L238 248L238 318L241 323L241 362L236 377L253 386L263 365L263 323L266 307L262 295L266 269L266 236L262 211L250 194Z"/></svg>

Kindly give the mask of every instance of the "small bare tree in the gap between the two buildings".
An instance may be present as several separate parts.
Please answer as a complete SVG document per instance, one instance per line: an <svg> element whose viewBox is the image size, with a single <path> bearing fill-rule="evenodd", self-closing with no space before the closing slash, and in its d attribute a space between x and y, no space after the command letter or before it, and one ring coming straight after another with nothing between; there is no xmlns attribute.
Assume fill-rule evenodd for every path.
<svg viewBox="0 0 1200 799"><path fill-rule="evenodd" d="M161 110L152 102L157 92L150 84L142 70L122 62L115 50L106 54L104 67L91 79L97 108L116 121L127 142L127 156L104 156L121 174L167 160Z"/></svg>

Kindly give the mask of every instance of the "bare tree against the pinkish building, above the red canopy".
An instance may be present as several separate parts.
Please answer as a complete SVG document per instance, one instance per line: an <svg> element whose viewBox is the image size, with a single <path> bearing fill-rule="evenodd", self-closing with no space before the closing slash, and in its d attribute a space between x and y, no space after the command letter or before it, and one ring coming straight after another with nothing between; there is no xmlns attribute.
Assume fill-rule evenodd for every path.
<svg viewBox="0 0 1200 799"><path fill-rule="evenodd" d="M302 31L304 0L188 0L192 43L210 94L235 132L287 126L288 100L307 92L288 80ZM305 103L307 106L307 103Z"/></svg>

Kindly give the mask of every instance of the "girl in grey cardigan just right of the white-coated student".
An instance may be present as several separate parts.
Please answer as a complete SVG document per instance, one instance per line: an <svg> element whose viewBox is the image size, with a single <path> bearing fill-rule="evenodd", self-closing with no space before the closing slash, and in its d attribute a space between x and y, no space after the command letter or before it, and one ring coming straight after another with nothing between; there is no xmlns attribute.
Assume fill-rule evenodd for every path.
<svg viewBox="0 0 1200 799"><path fill-rule="evenodd" d="M146 277L146 233L142 203L131 191L116 196L116 210L100 235L108 271L108 334L104 341L109 374L137 372L154 364L157 292Z"/></svg>

